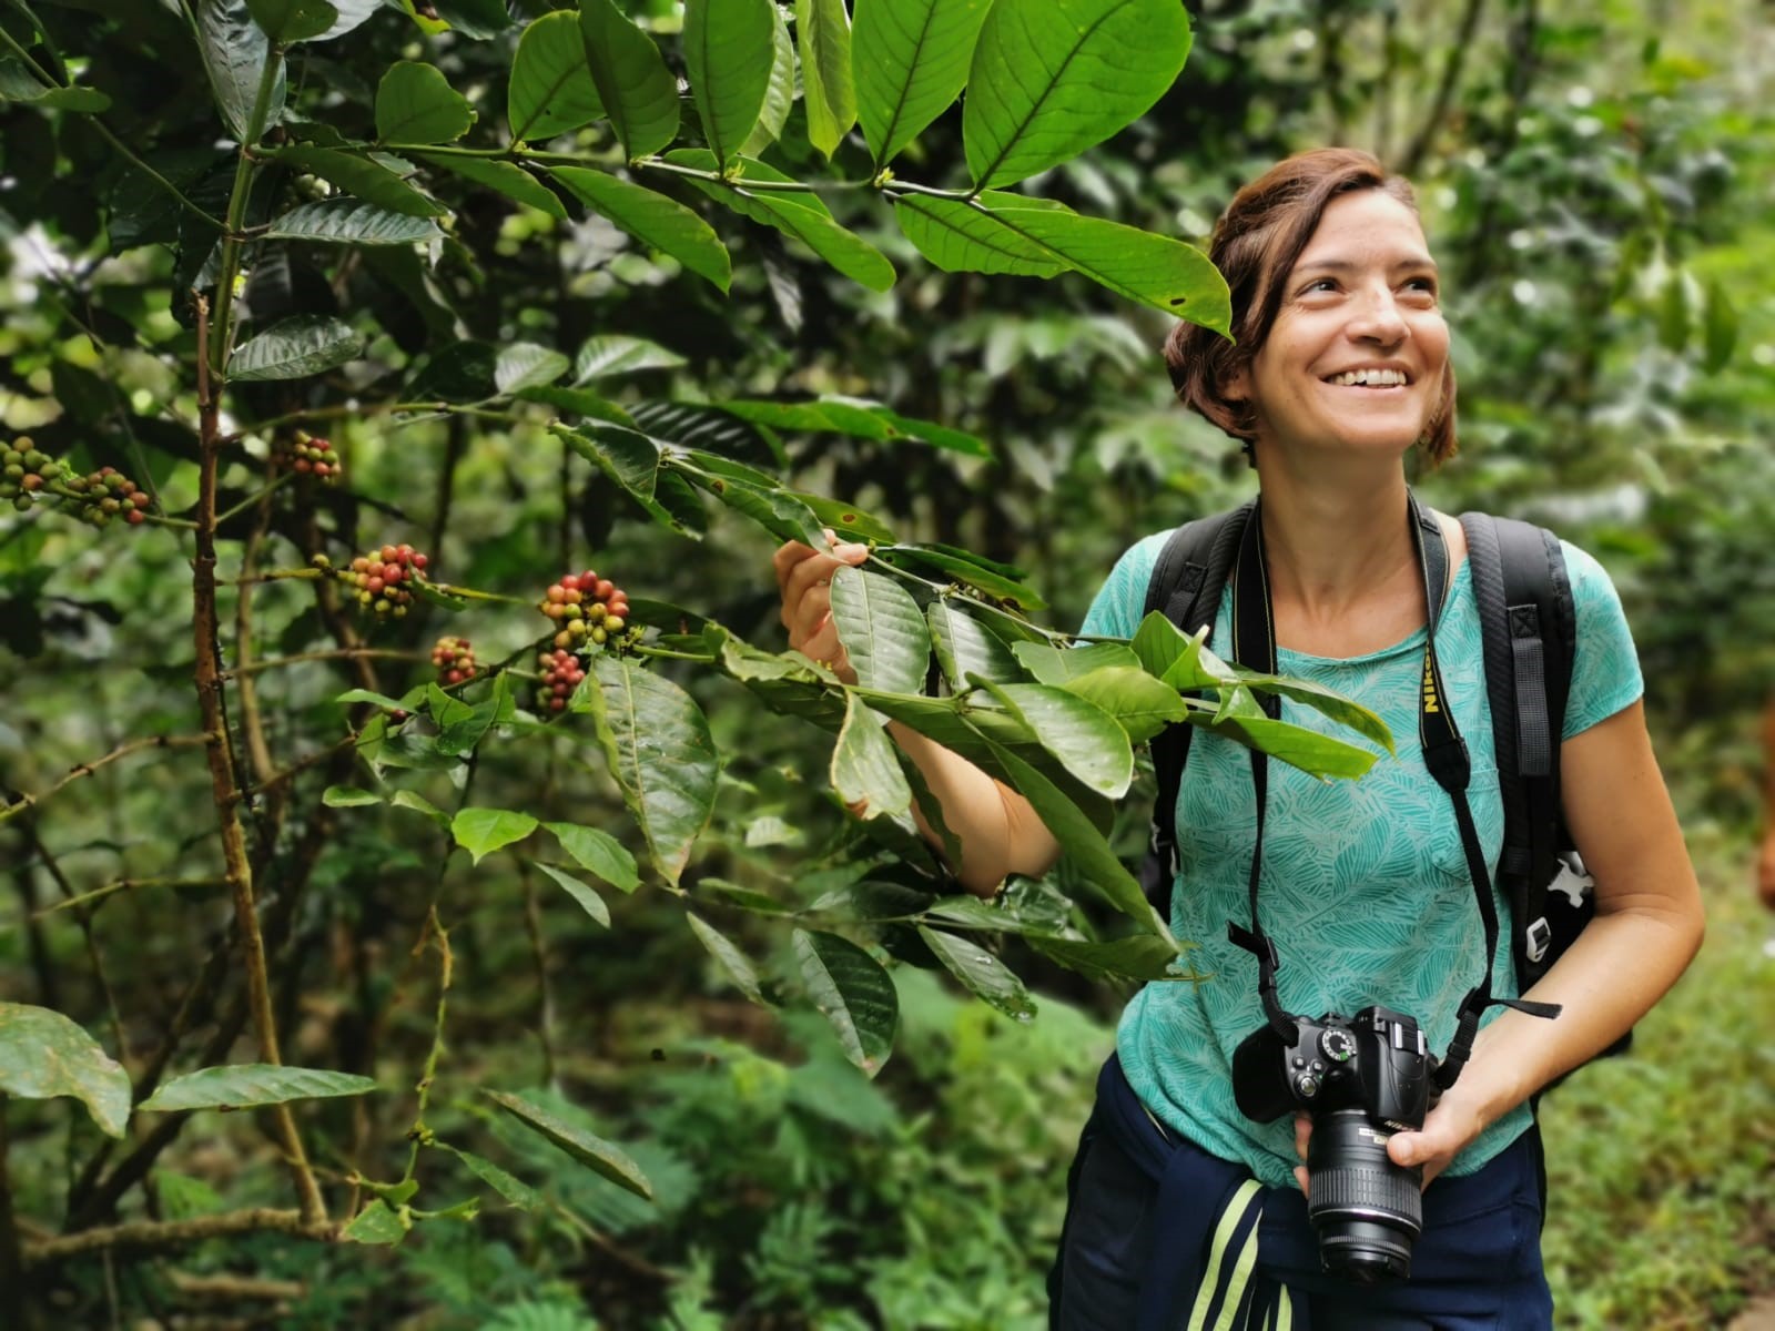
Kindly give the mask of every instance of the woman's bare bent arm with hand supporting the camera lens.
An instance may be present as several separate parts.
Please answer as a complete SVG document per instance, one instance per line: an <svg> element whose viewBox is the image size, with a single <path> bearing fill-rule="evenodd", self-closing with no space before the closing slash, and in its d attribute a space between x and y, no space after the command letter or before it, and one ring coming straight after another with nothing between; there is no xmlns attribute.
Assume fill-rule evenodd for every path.
<svg viewBox="0 0 1775 1331"><path fill-rule="evenodd" d="M1505 1010L1420 1132L1388 1145L1425 1182L1479 1132L1562 1072L1619 1040L1700 948L1702 909L1640 703L1560 745L1566 825L1596 877L1596 918L1523 997L1558 1003L1548 1020Z"/></svg>

